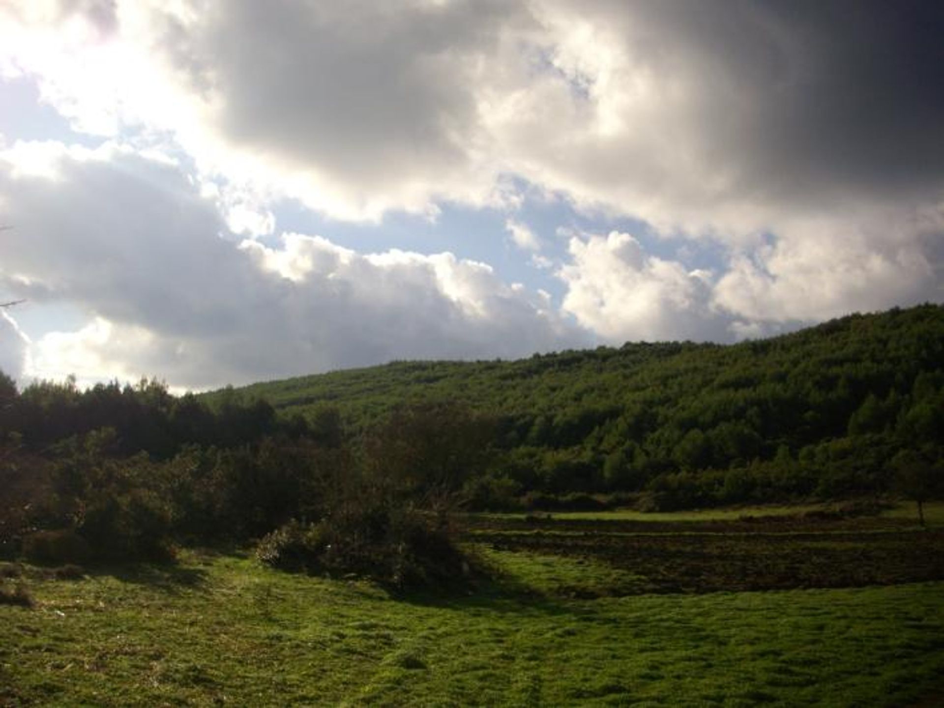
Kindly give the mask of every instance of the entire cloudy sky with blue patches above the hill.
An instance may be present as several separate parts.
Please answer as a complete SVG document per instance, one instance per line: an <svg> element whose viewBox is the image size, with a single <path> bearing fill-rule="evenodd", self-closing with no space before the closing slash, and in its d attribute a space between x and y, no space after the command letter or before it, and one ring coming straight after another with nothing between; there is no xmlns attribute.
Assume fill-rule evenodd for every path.
<svg viewBox="0 0 944 708"><path fill-rule="evenodd" d="M944 302L944 4L0 0L0 370L174 390Z"/></svg>

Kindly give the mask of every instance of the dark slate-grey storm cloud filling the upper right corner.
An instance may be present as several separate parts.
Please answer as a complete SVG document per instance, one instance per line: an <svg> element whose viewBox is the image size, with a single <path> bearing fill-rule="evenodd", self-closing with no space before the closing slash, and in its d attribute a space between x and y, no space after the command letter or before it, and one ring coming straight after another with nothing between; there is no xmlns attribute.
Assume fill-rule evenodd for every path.
<svg viewBox="0 0 944 708"><path fill-rule="evenodd" d="M637 66L682 81L693 149L750 199L939 196L944 4L603 2ZM825 191L824 191L825 190Z"/></svg>

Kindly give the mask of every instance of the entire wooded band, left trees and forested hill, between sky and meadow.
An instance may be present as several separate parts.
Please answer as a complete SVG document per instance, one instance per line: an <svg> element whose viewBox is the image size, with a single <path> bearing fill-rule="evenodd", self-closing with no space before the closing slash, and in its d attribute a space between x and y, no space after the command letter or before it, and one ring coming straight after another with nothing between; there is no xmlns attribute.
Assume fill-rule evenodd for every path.
<svg viewBox="0 0 944 708"><path fill-rule="evenodd" d="M382 560L394 578L422 574L409 558L437 536L417 528L459 504L923 499L944 477L942 367L944 308L922 305L733 346L398 362L202 396L0 375L0 552L153 556L281 529L270 558Z"/></svg>

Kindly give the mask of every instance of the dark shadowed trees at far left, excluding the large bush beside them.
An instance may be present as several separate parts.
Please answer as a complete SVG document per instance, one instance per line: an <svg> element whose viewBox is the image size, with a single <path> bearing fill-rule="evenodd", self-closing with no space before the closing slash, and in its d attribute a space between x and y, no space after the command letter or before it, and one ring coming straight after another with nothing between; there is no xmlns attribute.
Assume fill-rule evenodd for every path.
<svg viewBox="0 0 944 708"><path fill-rule="evenodd" d="M324 447L306 420L268 403L211 408L155 381L19 392L0 375L0 426L6 555L43 530L80 532L70 543L114 557L160 555L172 536L266 533L295 493L284 478L311 467L306 448Z"/></svg>

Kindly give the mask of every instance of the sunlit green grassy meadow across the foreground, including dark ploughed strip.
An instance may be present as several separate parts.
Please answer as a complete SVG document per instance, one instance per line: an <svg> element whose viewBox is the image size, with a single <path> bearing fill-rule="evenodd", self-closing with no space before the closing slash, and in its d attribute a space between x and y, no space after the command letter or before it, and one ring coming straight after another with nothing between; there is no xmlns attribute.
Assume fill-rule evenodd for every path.
<svg viewBox="0 0 944 708"><path fill-rule="evenodd" d="M944 574L931 555L944 541L939 522L921 530L906 511L776 533L735 520L743 510L660 516L655 532L618 512L536 528L480 519L464 537L491 578L462 594L396 595L241 552L74 580L22 567L5 582L27 584L34 604L0 605L0 705L936 705ZM940 519L940 505L929 511ZM687 565L660 545L674 536ZM705 573L718 537L799 548L810 568L825 554L849 586L817 586L826 576L801 565L790 568L811 586L718 590L780 577L766 552ZM665 563L633 551L652 539ZM930 575L869 575L916 544Z"/></svg>

